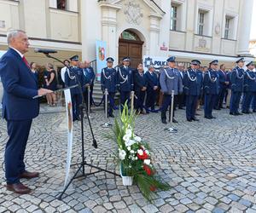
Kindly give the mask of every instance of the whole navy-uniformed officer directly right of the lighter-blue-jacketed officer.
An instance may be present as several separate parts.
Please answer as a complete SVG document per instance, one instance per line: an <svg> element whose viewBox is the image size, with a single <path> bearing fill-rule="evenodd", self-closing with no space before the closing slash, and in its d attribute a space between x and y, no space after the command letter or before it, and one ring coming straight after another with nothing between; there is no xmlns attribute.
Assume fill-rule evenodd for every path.
<svg viewBox="0 0 256 213"><path fill-rule="evenodd" d="M191 60L189 70L183 76L183 89L186 96L186 117L187 121L199 121L195 118L197 101L201 95L203 76L198 70L201 65L200 60Z"/></svg>

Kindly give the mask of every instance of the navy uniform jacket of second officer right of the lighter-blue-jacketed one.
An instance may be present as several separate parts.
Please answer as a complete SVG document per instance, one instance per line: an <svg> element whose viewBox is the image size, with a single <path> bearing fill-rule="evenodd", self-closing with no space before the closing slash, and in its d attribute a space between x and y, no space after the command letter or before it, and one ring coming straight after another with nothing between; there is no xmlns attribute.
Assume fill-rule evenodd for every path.
<svg viewBox="0 0 256 213"><path fill-rule="evenodd" d="M206 95L218 95L219 79L218 72L212 69L207 70L203 81L204 91Z"/></svg>

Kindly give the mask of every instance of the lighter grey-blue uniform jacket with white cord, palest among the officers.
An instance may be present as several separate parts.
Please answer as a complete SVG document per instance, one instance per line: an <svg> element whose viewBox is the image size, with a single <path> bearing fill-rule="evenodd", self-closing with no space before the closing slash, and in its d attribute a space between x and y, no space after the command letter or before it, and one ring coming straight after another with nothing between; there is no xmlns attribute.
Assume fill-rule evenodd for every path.
<svg viewBox="0 0 256 213"><path fill-rule="evenodd" d="M163 93L172 95L172 90L174 90L174 95L183 92L183 82L182 78L177 69L167 67L160 70L160 86Z"/></svg>

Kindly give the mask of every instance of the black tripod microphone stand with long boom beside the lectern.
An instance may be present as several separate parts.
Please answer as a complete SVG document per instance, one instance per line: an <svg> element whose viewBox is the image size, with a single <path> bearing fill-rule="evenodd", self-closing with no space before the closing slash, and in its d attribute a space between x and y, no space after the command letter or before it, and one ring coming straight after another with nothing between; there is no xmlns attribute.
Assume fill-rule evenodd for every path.
<svg viewBox="0 0 256 213"><path fill-rule="evenodd" d="M65 66L65 64L55 58L54 56L52 55L49 55L49 53L44 53L44 55L48 58L51 58L51 59L54 59L54 60L57 60L59 62L61 62L61 64L63 64ZM70 66L67 66L67 69L69 70L69 72L71 71L70 69ZM84 108L86 107L85 106L85 101L84 101L84 95L83 95L83 87L81 85L81 83L79 82L79 78L77 76L77 74L75 72L73 72L75 74L75 78L78 79L78 84L79 84L79 91L80 91L80 94L82 95L82 104L80 105L80 114L81 114L81 141L82 141L82 162L80 162L79 164L73 164L73 165L79 165L79 169L74 173L73 177L70 179L70 181L67 183L67 186L63 189L63 191L61 192L60 196L58 197L59 200L62 199L62 196L63 194L67 191L67 188L70 186L70 184L73 182L74 179L77 179L77 178L80 178L80 177L86 177L86 176L90 176L90 175L93 175L93 174L96 174L98 172L101 172L101 171L105 171L105 172L108 172L109 174L112 174L114 176L119 176L118 174L116 174L115 172L113 171L109 171L109 170L105 170L105 169L102 169L98 166L95 166L93 164L88 164L86 161L85 161L85 158L84 158ZM90 109L88 109L90 110ZM90 117L89 117L89 114L88 114L88 111L85 109L85 113L86 113L86 116L87 116L87 120L88 120L88 123L89 123L89 126L90 126L90 133L92 135L92 139L93 139L93 147L97 148L97 142L96 142L96 139L95 139L95 136L93 134L93 130L92 130L92 127L91 127L91 124L90 124ZM94 168L96 169L97 171L95 172L90 172L90 173L87 173L85 174L85 169L84 169L84 166L87 165L91 168ZM79 171L82 170L82 174L79 175Z"/></svg>

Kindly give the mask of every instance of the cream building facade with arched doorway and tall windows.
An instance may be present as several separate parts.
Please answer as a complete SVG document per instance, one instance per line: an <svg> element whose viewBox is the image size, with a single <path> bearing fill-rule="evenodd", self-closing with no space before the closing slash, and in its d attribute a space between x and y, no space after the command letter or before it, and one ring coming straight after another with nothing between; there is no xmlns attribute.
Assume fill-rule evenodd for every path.
<svg viewBox="0 0 256 213"><path fill-rule="evenodd" d="M107 42L106 56L177 56L178 61L212 59L234 66L249 54L253 0L0 0L0 50L6 32L30 37L29 61L51 61L34 48L56 49L64 60L81 55L96 60L96 40ZM61 66L57 61L51 61Z"/></svg>

